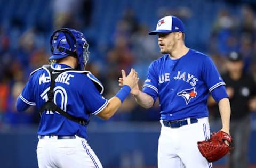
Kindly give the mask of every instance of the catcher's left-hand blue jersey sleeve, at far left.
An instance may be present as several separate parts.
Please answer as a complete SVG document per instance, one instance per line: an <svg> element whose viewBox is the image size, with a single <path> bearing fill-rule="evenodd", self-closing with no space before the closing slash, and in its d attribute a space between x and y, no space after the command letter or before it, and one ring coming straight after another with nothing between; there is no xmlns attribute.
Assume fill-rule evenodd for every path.
<svg viewBox="0 0 256 168"><path fill-rule="evenodd" d="M27 105L36 106L35 97L34 97L33 91L31 90L34 90L33 77L31 77L29 81L26 83L26 86L23 88L19 98Z"/></svg>

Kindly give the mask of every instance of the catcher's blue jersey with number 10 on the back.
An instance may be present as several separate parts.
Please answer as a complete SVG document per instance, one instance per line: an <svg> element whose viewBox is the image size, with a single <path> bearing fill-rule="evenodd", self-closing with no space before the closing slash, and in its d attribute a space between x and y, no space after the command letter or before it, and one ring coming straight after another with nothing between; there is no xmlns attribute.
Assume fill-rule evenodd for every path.
<svg viewBox="0 0 256 168"><path fill-rule="evenodd" d="M54 103L63 111L75 117L89 120L108 104L102 97L103 86L89 71L75 71L64 64L53 64L54 70L68 69L55 79ZM70 70L69 70L70 69ZM48 100L50 75L44 66L32 72L19 98L39 109ZM38 135L78 135L87 138L86 126L70 121L58 112L45 111L41 116Z"/></svg>

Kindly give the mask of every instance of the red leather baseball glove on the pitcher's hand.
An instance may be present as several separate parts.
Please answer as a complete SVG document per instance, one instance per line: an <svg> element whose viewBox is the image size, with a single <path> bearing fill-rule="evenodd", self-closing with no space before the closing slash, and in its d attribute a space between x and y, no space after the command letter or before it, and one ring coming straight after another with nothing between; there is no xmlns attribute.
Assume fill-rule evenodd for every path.
<svg viewBox="0 0 256 168"><path fill-rule="evenodd" d="M226 144L225 140L229 145ZM232 137L223 131L213 132L210 139L197 142L201 154L209 162L218 161L231 149Z"/></svg>

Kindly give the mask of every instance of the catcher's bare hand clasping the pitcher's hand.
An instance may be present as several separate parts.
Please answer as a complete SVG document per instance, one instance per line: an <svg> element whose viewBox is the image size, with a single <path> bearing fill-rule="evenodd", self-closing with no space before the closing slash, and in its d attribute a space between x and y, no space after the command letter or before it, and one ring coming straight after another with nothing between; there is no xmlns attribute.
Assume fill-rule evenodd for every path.
<svg viewBox="0 0 256 168"><path fill-rule="evenodd" d="M130 73L126 77L126 73L124 70L121 70L122 78L119 78L119 86L128 85L131 87L133 91L134 88L138 87L139 78L137 77L137 72L132 68ZM138 87L139 89L139 87ZM131 93L132 93L131 91Z"/></svg>

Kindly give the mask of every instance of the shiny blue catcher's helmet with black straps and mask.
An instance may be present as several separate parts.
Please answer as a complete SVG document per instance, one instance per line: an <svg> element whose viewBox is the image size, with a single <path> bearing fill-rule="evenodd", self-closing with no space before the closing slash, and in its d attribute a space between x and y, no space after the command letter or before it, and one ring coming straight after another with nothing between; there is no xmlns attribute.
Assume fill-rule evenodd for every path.
<svg viewBox="0 0 256 168"><path fill-rule="evenodd" d="M49 60L75 56L79 64L78 69L85 69L89 58L89 44L82 32L68 28L57 29L52 33L50 43L52 56Z"/></svg>

